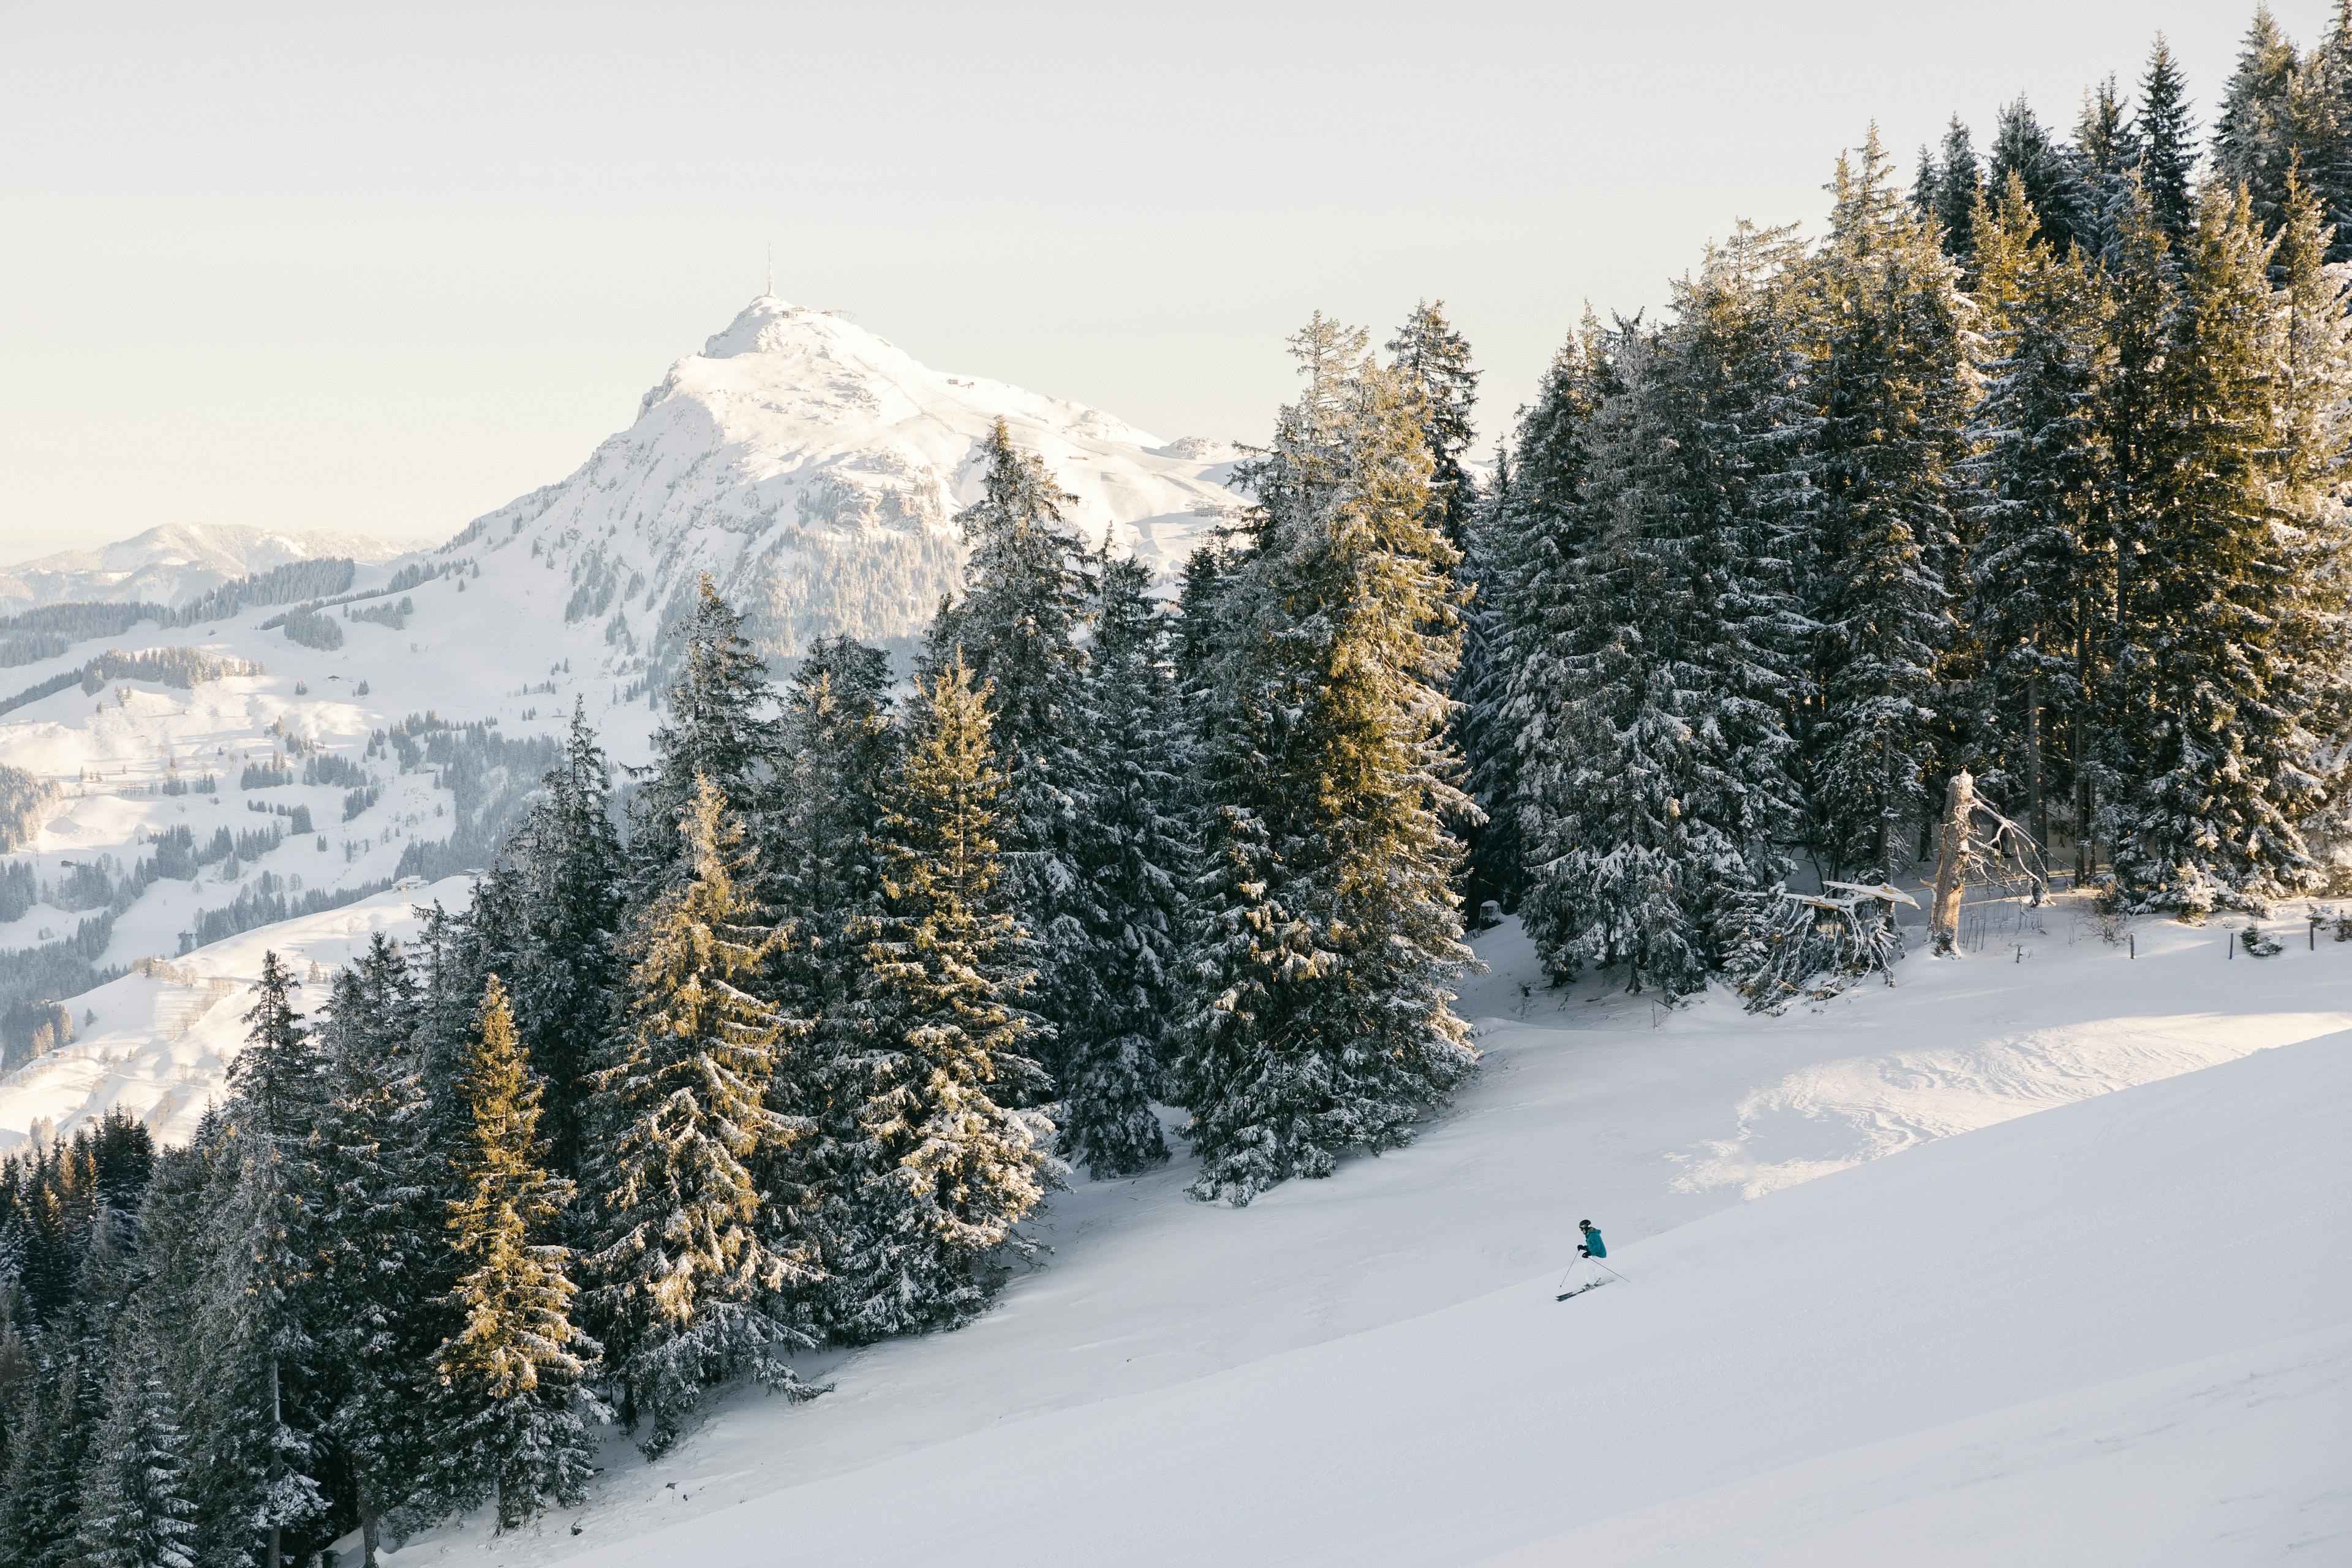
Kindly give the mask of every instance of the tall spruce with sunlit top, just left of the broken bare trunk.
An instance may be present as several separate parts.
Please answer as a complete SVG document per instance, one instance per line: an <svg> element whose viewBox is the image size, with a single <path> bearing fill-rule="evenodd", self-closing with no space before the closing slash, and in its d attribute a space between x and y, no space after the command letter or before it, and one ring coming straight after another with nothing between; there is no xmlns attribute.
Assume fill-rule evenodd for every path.
<svg viewBox="0 0 2352 1568"><path fill-rule="evenodd" d="M1933 233L1893 197L1877 132L1860 162L1839 158L1832 190L1813 263L1806 611L1820 632L1802 741L1813 849L1867 879L1893 875L1929 816L1969 301Z"/></svg>

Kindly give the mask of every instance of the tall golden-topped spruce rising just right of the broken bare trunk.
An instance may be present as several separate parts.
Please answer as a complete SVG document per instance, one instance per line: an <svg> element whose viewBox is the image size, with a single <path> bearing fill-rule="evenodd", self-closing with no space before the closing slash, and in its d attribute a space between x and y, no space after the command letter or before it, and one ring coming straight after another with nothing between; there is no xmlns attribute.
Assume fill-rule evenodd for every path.
<svg viewBox="0 0 2352 1568"><path fill-rule="evenodd" d="M1978 214L1978 374L1966 463L1973 548L1966 621L1983 649L1969 762L2049 846L2049 804L2072 792L2096 689L2105 604L2096 512L2105 301L2082 252L2034 237L2023 181Z"/></svg>

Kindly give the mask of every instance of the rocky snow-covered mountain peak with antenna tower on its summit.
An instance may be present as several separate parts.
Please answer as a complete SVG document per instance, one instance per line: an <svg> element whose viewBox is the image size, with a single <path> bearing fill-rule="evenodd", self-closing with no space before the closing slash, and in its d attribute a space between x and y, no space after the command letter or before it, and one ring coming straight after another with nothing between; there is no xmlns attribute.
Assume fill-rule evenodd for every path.
<svg viewBox="0 0 2352 1568"><path fill-rule="evenodd" d="M962 571L955 512L995 421L1075 496L1070 522L1174 574L1235 498L1232 451L1162 444L1063 397L929 369L847 315L753 299L675 362L579 473L475 520L445 552L555 588L597 665L659 684L661 628L701 574L774 658L847 632L910 639Z"/></svg>

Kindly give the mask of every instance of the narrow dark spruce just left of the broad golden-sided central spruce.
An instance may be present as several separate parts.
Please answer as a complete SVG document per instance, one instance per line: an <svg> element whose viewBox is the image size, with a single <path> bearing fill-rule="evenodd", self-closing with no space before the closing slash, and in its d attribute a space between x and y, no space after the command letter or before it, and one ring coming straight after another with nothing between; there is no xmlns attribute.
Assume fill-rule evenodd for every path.
<svg viewBox="0 0 2352 1568"><path fill-rule="evenodd" d="M1103 543L1084 684L1087 1013L1063 1046L1061 1154L1094 1175L1167 1159L1152 1098L1183 940L1185 729L1150 569Z"/></svg>

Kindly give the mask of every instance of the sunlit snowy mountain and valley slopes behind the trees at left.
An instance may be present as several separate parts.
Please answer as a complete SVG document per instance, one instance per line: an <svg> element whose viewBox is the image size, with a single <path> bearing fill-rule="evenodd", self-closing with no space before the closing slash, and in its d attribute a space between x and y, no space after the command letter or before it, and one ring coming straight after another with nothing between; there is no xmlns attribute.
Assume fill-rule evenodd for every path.
<svg viewBox="0 0 2352 1568"><path fill-rule="evenodd" d="M1160 569L1181 564L1237 503L1225 489L1235 456L1225 444L1160 442L1098 409L934 371L842 315L762 296L703 353L673 364L635 423L574 475L437 550L386 557L343 536L153 529L89 557L19 569L42 597L82 574L73 578L82 597L174 602L310 545L362 559L348 595L320 609L334 646L294 642L275 623L296 607L266 604L205 625L146 621L0 668L0 762L64 790L16 860L52 889L94 860L120 879L155 856L158 835L186 827L205 844L223 827L249 835L289 825L294 806L308 811L308 835L287 832L261 856L148 886L96 954L111 966L179 959L183 933L202 933L200 912L219 917L240 893L256 893L263 875L296 900L379 889L400 872L402 851L447 839L466 802L447 769L402 771L372 736L433 715L435 724L487 719L503 738L527 741L553 736L581 701L612 755L637 762L656 722L649 696L670 672L663 632L703 571L779 665L828 632L906 649L957 581L962 541L950 520L978 496L976 451L997 418L1075 496L1077 527L1091 538L1110 531ZM259 672L195 686L92 672L89 661L111 649L193 649ZM47 696L14 701L35 691ZM247 764L273 755L292 757L296 780L245 788ZM301 783L313 759L332 778ZM496 780L510 806L536 773L524 762L506 766L527 773ZM207 773L219 785L212 795L165 792ZM353 804L355 790L374 795ZM433 875L466 860L445 858ZM71 938L89 917L87 898L64 893L16 919L0 914L0 1001L12 966L31 973L12 950ZM87 1009L73 1004L75 1016ZM214 1056L200 1060L207 1072L219 1072ZM99 1110L103 1086L80 1107L61 1098L64 1084L85 1077L47 1077L40 1095L0 1081L0 1147L35 1117L71 1126Z"/></svg>

